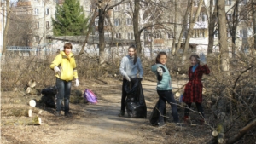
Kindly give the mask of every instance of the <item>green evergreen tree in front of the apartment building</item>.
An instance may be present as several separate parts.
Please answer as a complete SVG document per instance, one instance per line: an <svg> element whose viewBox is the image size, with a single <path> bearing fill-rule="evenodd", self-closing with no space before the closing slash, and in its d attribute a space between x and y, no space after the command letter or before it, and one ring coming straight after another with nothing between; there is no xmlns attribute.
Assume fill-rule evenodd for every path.
<svg viewBox="0 0 256 144"><path fill-rule="evenodd" d="M78 0L65 0L62 6L57 5L53 32L55 36L79 36L88 29L88 18Z"/></svg>

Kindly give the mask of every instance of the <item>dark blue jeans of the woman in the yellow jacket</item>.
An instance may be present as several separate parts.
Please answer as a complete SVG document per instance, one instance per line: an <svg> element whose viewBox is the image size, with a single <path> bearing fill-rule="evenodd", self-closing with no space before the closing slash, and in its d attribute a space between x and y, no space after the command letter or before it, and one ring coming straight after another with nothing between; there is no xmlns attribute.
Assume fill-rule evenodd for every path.
<svg viewBox="0 0 256 144"><path fill-rule="evenodd" d="M61 103L64 98L64 112L69 112L69 97L71 91L71 81L56 79L56 87L58 90L56 99L56 111L61 112Z"/></svg>

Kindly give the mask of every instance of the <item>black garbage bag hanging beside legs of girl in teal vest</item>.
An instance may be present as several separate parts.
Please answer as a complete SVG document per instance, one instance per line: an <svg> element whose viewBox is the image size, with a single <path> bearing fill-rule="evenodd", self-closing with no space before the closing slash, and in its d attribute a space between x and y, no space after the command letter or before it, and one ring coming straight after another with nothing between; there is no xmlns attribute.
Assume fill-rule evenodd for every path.
<svg viewBox="0 0 256 144"><path fill-rule="evenodd" d="M164 109L164 116L166 116L166 107ZM158 119L160 117L160 112L159 112L159 101L156 102L153 111L151 112L149 116L149 122L152 125L158 125ZM166 117L164 117L164 121L166 122Z"/></svg>

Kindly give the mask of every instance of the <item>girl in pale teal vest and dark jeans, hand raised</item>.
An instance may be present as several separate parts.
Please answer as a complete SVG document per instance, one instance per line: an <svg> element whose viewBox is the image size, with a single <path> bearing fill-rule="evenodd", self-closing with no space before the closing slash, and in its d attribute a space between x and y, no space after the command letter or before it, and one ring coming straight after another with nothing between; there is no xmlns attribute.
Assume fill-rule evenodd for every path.
<svg viewBox="0 0 256 144"><path fill-rule="evenodd" d="M164 122L164 110L166 108L166 101L172 107L172 117L174 123L179 122L177 113L177 104L172 94L172 78L169 70L166 67L167 55L166 52L160 52L155 59L155 64L151 66L151 71L155 73L157 77L157 93L159 95L159 109L160 118L158 120L158 126L165 124Z"/></svg>

